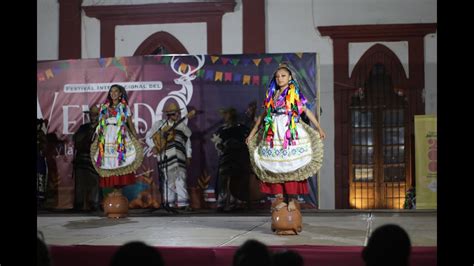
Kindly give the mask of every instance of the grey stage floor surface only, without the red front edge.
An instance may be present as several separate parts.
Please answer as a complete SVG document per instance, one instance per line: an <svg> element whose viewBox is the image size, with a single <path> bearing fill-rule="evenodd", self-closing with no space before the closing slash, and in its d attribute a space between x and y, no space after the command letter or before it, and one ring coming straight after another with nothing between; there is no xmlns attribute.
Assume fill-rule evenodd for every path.
<svg viewBox="0 0 474 266"><path fill-rule="evenodd" d="M413 246L437 246L436 211L303 210L303 231L277 236L270 230L270 212L169 214L163 210L131 210L109 219L100 212L38 212L37 225L48 245L122 245L140 240L152 246L239 246L247 239L267 245L364 246L383 224L402 226Z"/></svg>

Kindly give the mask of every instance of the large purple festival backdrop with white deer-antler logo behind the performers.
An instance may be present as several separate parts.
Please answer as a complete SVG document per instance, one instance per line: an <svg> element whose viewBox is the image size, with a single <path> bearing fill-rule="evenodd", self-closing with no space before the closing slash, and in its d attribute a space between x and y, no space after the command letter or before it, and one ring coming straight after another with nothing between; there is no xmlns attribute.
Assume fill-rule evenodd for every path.
<svg viewBox="0 0 474 266"><path fill-rule="evenodd" d="M145 137L155 121L164 118L163 108L170 101L182 108L182 117L191 110L197 111L195 117L184 122L192 130L192 161L187 184L191 189L205 183L206 187L201 189L211 191L218 172L218 154L211 138L223 122L219 110L235 108L242 124L252 101L257 102L257 112L261 113L268 82L280 62L287 62L297 70L295 75L308 99L308 107L318 110L316 58L315 53L150 55L38 63L37 117L48 121L46 160L48 187L53 191L50 198L54 198L53 203L50 199L52 207L72 208L72 136L88 122L85 111L105 102L112 84L126 88L139 138ZM140 197L159 197L156 158L150 147L145 147L144 153L136 184L123 189L130 202ZM306 199L314 207L318 204L316 180L316 176L310 178L313 193ZM135 203L132 205L136 208L154 204L152 200Z"/></svg>

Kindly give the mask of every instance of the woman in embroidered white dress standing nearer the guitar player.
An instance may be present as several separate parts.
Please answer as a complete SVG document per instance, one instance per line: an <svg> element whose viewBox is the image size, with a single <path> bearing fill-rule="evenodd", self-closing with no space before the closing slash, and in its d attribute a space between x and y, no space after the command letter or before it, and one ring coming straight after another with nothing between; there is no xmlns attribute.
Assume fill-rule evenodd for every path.
<svg viewBox="0 0 474 266"><path fill-rule="evenodd" d="M121 188L133 184L134 172L143 161L143 148L132 123L125 88L112 85L99 111L99 124L91 146L92 161L101 177L99 185Z"/></svg>

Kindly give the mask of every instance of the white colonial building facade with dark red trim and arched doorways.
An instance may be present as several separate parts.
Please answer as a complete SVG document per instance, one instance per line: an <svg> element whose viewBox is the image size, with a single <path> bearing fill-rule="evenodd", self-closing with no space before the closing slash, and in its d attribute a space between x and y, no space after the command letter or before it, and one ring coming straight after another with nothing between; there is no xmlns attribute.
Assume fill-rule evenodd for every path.
<svg viewBox="0 0 474 266"><path fill-rule="evenodd" d="M38 0L38 61L315 52L319 208L403 208L414 116L436 114L436 0Z"/></svg>

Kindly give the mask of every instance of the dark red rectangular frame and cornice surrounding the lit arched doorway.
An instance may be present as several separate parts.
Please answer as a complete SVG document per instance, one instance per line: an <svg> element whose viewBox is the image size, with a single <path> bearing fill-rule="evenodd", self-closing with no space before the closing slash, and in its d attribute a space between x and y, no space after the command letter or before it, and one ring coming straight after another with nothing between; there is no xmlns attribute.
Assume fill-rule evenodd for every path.
<svg viewBox="0 0 474 266"><path fill-rule="evenodd" d="M352 96L358 90L353 84L357 75L349 75L349 44L367 42L400 42L408 43L408 73L409 78L406 89L408 98L408 127L409 137L414 136L414 116L424 114L425 104L423 102L423 89L425 86L424 70L424 38L429 33L436 32L436 23L419 24L381 24L381 25L337 25L319 26L321 36L330 36L333 40L333 71L334 71L334 189L336 209L352 208L350 205L350 183L351 176L350 154L351 150L351 112ZM380 45L375 48L388 48ZM372 49L374 48L372 47ZM372 50L371 49L371 50ZM375 51L375 50L372 50ZM367 53L366 53L367 54ZM383 52L379 53L383 57ZM376 57L372 57L376 60ZM377 60L376 60L377 61ZM379 60L380 61L380 60ZM360 60L362 62L362 59ZM398 65L399 61L397 59ZM375 62L374 62L375 63ZM387 70L392 66L382 62ZM372 64L373 65L373 64ZM397 65L397 64L395 64ZM367 72L372 68L367 65ZM391 73L391 72L390 72ZM362 76L361 76L362 77ZM392 75L393 78L393 75ZM365 80L365 79L364 79ZM398 86L398 85L397 85ZM398 87L397 87L398 88ZM396 88L395 88L396 89ZM408 135L408 134L407 134ZM412 141L411 141L412 143ZM411 146L411 143L408 146ZM411 154L410 166L413 165ZM413 169L409 170L413 173ZM327 182L326 185L331 185Z"/></svg>

